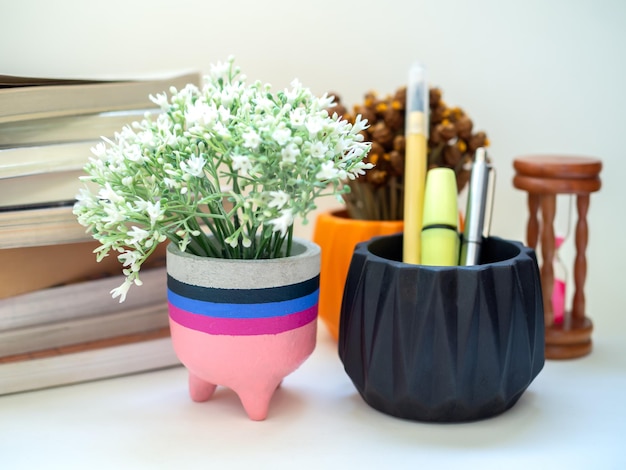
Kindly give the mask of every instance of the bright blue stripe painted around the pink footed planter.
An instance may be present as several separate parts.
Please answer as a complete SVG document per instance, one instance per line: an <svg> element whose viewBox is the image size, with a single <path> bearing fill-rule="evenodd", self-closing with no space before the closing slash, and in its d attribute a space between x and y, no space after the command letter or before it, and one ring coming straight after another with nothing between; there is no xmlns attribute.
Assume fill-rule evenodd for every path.
<svg viewBox="0 0 626 470"><path fill-rule="evenodd" d="M240 292L245 292L245 290L241 289ZM214 318L270 318L290 315L294 312L300 312L313 307L317 304L318 297L319 289L311 294L296 299L281 302L249 304L206 302L183 297L170 289L167 291L167 299L175 307L197 315Z"/></svg>

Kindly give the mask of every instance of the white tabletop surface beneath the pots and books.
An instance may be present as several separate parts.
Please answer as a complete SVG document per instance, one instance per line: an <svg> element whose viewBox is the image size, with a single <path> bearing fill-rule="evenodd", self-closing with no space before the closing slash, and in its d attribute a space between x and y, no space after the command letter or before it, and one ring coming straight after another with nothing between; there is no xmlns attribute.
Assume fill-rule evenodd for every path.
<svg viewBox="0 0 626 470"><path fill-rule="evenodd" d="M0 397L0 468L626 468L620 336L604 330L590 356L546 362L500 416L429 424L365 404L321 327L261 422L228 389L193 403L181 367Z"/></svg>

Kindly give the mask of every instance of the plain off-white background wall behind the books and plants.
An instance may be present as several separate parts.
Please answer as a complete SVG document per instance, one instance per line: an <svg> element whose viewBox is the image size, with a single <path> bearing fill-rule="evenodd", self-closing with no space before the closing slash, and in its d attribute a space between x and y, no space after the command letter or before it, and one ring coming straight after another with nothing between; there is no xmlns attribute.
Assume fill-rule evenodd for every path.
<svg viewBox="0 0 626 470"><path fill-rule="evenodd" d="M525 236L515 156L603 160L586 289L598 340L626 304L625 24L621 0L0 0L0 73L208 71L234 54L252 79L282 88L297 77L352 105L370 89L393 92L420 60L431 85L489 135L493 234Z"/></svg>

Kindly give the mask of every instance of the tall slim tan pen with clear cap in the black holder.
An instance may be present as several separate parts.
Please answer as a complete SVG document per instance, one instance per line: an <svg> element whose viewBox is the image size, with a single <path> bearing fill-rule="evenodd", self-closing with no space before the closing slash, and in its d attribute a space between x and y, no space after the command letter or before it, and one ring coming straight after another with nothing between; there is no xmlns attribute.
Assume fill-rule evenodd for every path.
<svg viewBox="0 0 626 470"><path fill-rule="evenodd" d="M409 70L406 98L406 150L404 166L404 237L402 261L421 262L422 218L428 151L430 110L426 70L417 63Z"/></svg>

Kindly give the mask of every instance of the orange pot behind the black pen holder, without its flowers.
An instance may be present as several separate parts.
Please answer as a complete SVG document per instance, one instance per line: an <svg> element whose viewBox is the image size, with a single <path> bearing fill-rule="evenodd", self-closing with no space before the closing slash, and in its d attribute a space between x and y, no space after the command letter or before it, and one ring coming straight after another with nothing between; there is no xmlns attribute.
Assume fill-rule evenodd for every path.
<svg viewBox="0 0 626 470"><path fill-rule="evenodd" d="M341 300L354 247L372 237L402 232L403 228L402 220L356 220L345 210L317 217L313 241L322 250L318 313L335 340L339 338Z"/></svg>

